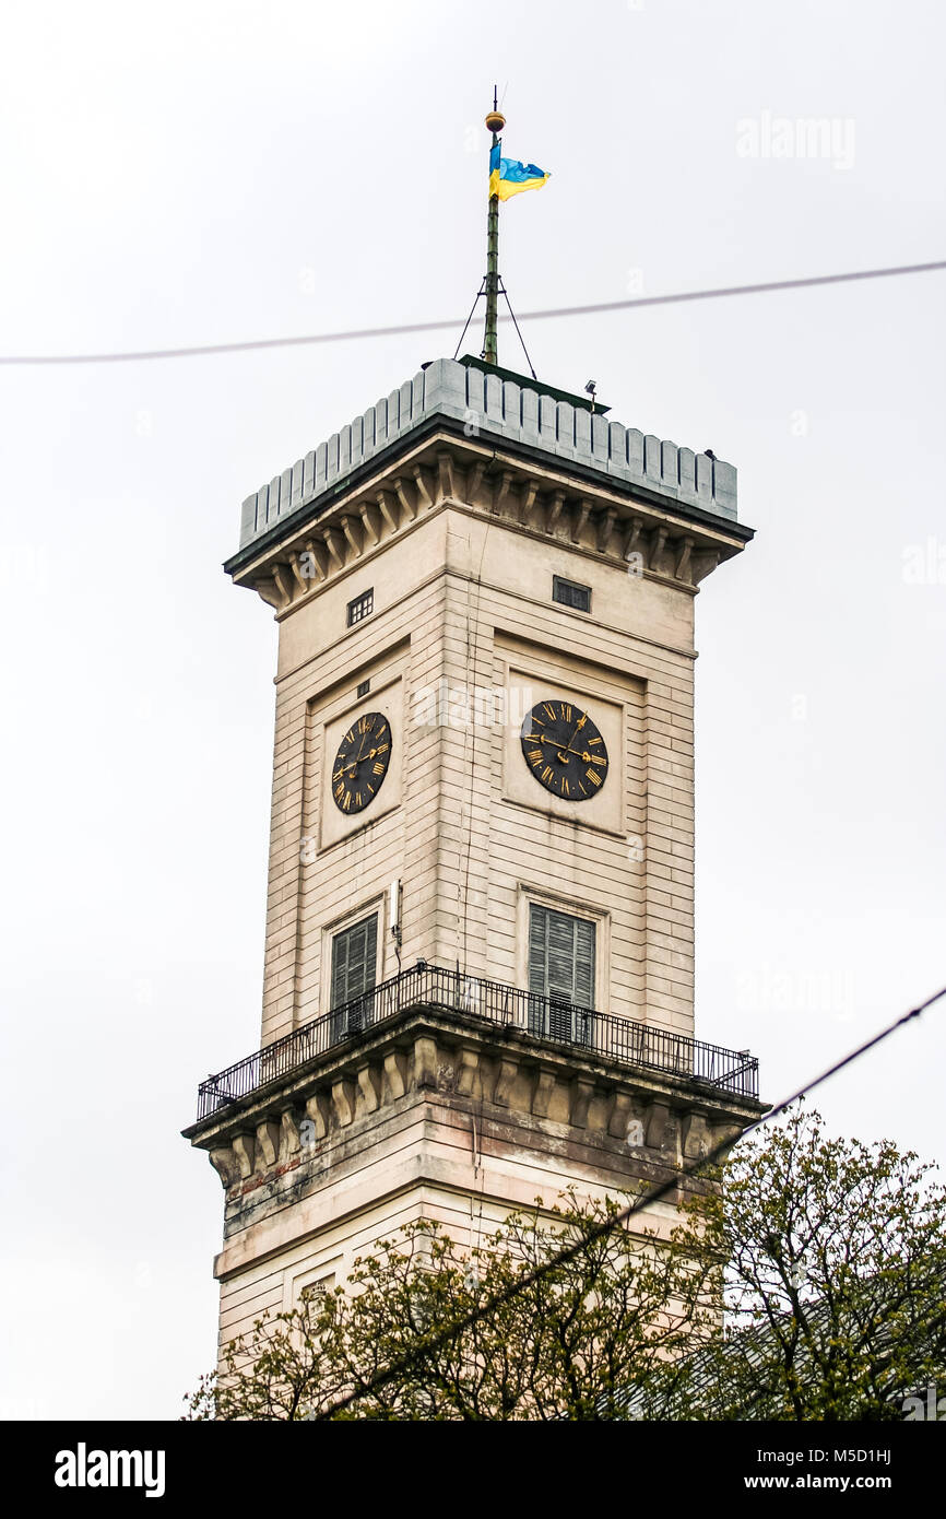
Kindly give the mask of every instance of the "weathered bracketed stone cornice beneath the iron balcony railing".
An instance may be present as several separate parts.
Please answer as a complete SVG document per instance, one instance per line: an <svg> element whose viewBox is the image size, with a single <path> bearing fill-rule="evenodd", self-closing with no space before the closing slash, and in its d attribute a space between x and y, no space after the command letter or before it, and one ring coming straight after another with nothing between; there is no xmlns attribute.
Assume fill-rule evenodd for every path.
<svg viewBox="0 0 946 1519"><path fill-rule="evenodd" d="M408 1010L184 1130L225 1188L255 1191L298 1170L319 1145L354 1136L404 1100L468 1106L493 1120L551 1124L575 1142L618 1145L679 1167L764 1112L708 1082L626 1066L477 1018ZM632 1171L635 1167L632 1165Z"/></svg>

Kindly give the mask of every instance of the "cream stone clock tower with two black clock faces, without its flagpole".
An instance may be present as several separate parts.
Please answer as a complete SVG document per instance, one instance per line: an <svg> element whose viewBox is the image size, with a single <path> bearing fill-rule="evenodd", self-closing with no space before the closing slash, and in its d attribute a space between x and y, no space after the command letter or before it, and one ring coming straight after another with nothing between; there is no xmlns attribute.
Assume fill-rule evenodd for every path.
<svg viewBox="0 0 946 1519"><path fill-rule="evenodd" d="M762 1110L692 1027L694 600L750 538L730 465L472 358L244 501L226 568L279 623L261 1048L185 1130L222 1338L408 1220L475 1243Z"/></svg>

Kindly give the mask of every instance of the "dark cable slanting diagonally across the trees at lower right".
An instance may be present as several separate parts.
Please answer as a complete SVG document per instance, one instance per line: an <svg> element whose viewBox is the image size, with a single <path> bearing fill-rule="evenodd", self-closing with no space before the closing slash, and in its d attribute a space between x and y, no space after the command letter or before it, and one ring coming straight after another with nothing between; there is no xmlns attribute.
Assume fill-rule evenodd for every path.
<svg viewBox="0 0 946 1519"><path fill-rule="evenodd" d="M946 996L946 986L940 987L938 992L934 992L932 996L928 996L925 1003L920 1003L917 1007L911 1007L908 1013L903 1013L900 1018L896 1018L891 1024L882 1028L879 1034L875 1034L873 1039L864 1041L864 1044L858 1045L856 1050L852 1050L850 1054L846 1054L841 1060L835 1060L835 1063L828 1066L826 1071L821 1071L820 1075L815 1075L811 1082L806 1082L805 1086L800 1086L797 1092L791 1094L791 1097L785 1097L780 1103L776 1104L776 1107L770 1107L768 1112L762 1113L761 1118L756 1118L755 1123L749 1124L749 1127L743 1130L743 1135L739 1138L746 1138L746 1135L750 1135L756 1129L762 1129L765 1124L771 1123L773 1118L777 1118L779 1113L784 1113L788 1107L791 1107L793 1103L797 1103L799 1098L808 1097L811 1092L814 1092L817 1086L821 1086L823 1082L828 1082L829 1077L837 1075L837 1072L843 1071L844 1066L850 1065L853 1060L858 1060L862 1054L867 1054L867 1051L873 1050L875 1045L882 1044L884 1039L888 1039L890 1034L896 1033L897 1028L902 1028L903 1024L908 1024L914 1018L919 1018L920 1013L925 1013L928 1007L932 1007L932 1004L938 1003L940 998L943 996ZM459 1318L456 1323L446 1325L446 1328L439 1329L430 1338L425 1338L419 1346L416 1346L412 1350L407 1350L398 1361L392 1363L392 1366L386 1367L381 1372L377 1372L375 1376L372 1376L364 1387L360 1387L355 1391L348 1393L345 1397L340 1397L323 1413L317 1414L316 1422L331 1419L333 1414L342 1413L343 1408L348 1408L351 1407L351 1404L358 1402L358 1399L366 1397L369 1393L375 1391L375 1388L384 1387L386 1382L390 1382L396 1376L401 1376L402 1372L410 1370L415 1361L421 1360L425 1355L430 1355L431 1350L437 1350L442 1344L456 1340L456 1337L463 1334L465 1329L471 1329L475 1323L480 1323L481 1318L486 1318L489 1317L489 1314L495 1312L497 1308L501 1308L504 1303L512 1302L512 1299L518 1293L524 1291L527 1287L533 1287L536 1282L542 1281L544 1276L548 1276L550 1271L554 1271L557 1267L566 1265L569 1261L574 1261L575 1256L582 1255L582 1252L586 1250L589 1244L594 1244L597 1240L603 1240L606 1235L612 1233L615 1229L620 1229L623 1224L626 1224L627 1220L632 1217L632 1214L638 1214L644 1208L648 1208L651 1203L657 1203L670 1192L674 1192L680 1185L682 1177L697 1176L702 1170L715 1165L717 1161L721 1161L729 1150L732 1150L732 1139L724 1139L721 1144L715 1145L715 1148L711 1150L709 1154L698 1159L695 1165L691 1165L689 1168L680 1167L679 1171L674 1171L674 1174L667 1182L661 1182L661 1185L656 1186L651 1192L647 1192L644 1197L638 1197L633 1203L630 1203L621 1212L615 1214L612 1218L606 1218L603 1223L595 1224L594 1229L589 1229L585 1235L582 1235L582 1238L575 1244L571 1244L565 1250L560 1250L550 1261L545 1261L542 1265L538 1265L527 1276L519 1277L519 1281L512 1282L501 1293L497 1293L493 1297L489 1299L489 1302L481 1303L478 1308L472 1308L463 1318Z"/></svg>

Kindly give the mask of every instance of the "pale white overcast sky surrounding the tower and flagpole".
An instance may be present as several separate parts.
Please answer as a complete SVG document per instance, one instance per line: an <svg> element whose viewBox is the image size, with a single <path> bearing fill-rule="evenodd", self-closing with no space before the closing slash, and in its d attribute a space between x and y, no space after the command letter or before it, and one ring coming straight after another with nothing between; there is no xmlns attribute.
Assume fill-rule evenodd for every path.
<svg viewBox="0 0 946 1519"><path fill-rule="evenodd" d="M214 1360L179 1129L258 1044L276 643L220 562L244 495L453 354L493 79L553 175L503 211L528 311L941 258L943 43L934 0L8 0L3 354L459 321L0 366L3 1416L176 1417ZM770 1100L946 981L944 292L525 324L544 380L732 460L758 529L697 602L697 1034ZM944 1056L946 1004L820 1106L946 1159Z"/></svg>

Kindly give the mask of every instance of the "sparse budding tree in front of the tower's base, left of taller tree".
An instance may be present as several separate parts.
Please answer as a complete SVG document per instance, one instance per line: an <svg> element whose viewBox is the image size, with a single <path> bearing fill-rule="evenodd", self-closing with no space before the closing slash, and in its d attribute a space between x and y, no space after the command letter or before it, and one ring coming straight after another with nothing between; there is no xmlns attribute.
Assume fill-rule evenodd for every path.
<svg viewBox="0 0 946 1519"><path fill-rule="evenodd" d="M264 1315L231 1341L219 1373L187 1399L187 1417L623 1417L629 1391L644 1394L664 1361L709 1328L703 1268L654 1232L615 1227L559 1261L627 1202L579 1205L566 1194L544 1217L512 1214L472 1250L436 1223L415 1223L355 1262L346 1288ZM536 1279L538 1267L550 1270ZM434 1341L493 1299L474 1325ZM358 1396L333 1413L345 1393Z"/></svg>

